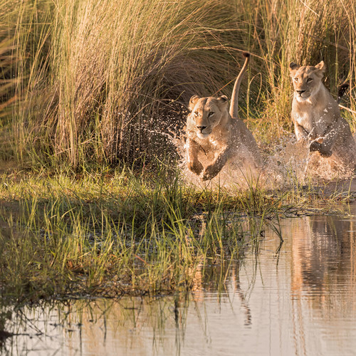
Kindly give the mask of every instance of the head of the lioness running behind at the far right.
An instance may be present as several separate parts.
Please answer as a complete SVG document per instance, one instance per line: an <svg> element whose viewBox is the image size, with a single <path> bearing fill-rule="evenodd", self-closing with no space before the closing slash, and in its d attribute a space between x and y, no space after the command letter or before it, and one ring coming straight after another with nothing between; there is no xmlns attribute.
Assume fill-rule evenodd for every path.
<svg viewBox="0 0 356 356"><path fill-rule="evenodd" d="M298 66L293 62L289 65L290 76L293 80L294 95L298 102L302 103L318 93L325 72L323 61L313 66Z"/></svg>

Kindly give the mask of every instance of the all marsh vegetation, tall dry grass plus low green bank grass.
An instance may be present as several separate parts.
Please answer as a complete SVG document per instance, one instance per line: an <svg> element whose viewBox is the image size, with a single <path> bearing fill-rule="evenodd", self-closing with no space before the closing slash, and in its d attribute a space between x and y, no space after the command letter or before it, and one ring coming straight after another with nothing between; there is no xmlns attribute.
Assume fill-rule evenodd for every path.
<svg viewBox="0 0 356 356"><path fill-rule="evenodd" d="M331 93L350 82L353 132L355 21L352 0L0 0L1 294L187 290L266 224L354 199L288 169L274 190L189 185L174 143L192 95L229 97L242 51L240 116L264 155L293 136L290 61L323 59Z"/></svg>

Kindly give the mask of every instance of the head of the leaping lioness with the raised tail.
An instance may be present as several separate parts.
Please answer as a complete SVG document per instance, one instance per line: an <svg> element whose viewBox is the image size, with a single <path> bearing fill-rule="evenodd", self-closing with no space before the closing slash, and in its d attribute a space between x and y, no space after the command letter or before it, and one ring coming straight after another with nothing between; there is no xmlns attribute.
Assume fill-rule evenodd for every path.
<svg viewBox="0 0 356 356"><path fill-rule="evenodd" d="M187 129L195 132L197 137L205 139L214 131L214 127L229 117L229 100L226 95L219 98L199 98L194 95L189 101Z"/></svg>

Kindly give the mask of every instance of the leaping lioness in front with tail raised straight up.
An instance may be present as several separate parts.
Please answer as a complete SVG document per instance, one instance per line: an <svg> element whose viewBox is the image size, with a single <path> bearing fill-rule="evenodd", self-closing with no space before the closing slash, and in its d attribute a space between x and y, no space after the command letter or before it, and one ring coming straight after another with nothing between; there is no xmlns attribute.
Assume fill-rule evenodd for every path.
<svg viewBox="0 0 356 356"><path fill-rule="evenodd" d="M216 177L232 157L240 157L246 164L257 168L261 158L256 140L239 119L239 88L248 66L250 54L244 53L245 63L236 78L234 90L229 99L199 98L193 95L189 101L187 117L187 167L203 181ZM203 155L204 159L199 159ZM201 161L207 162L204 165Z"/></svg>

